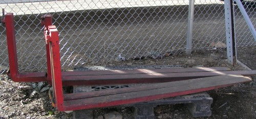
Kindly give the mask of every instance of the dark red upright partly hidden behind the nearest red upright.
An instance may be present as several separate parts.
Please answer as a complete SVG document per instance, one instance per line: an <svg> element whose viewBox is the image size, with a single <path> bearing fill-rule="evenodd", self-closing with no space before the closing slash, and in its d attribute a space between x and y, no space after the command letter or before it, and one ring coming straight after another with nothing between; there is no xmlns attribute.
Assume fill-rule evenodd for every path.
<svg viewBox="0 0 256 119"><path fill-rule="evenodd" d="M52 15L47 14L44 16L44 25L45 25L45 31L48 29L50 25L52 25ZM50 61L50 49L49 49L49 43L46 44L46 57L47 57L47 81L51 83L52 77L51 77L51 61Z"/></svg>

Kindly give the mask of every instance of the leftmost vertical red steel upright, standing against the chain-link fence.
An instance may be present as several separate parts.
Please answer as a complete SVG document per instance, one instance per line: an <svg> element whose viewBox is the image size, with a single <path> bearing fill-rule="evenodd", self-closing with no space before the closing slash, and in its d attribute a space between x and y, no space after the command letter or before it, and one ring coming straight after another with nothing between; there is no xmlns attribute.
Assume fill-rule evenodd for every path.
<svg viewBox="0 0 256 119"><path fill-rule="evenodd" d="M8 72L11 77L17 77L18 75L18 61L17 61L17 50L16 41L14 35L14 20L13 13L7 13L5 15L5 25L6 25L6 38L9 56L9 66L10 70ZM13 78L14 81L16 78Z"/></svg>

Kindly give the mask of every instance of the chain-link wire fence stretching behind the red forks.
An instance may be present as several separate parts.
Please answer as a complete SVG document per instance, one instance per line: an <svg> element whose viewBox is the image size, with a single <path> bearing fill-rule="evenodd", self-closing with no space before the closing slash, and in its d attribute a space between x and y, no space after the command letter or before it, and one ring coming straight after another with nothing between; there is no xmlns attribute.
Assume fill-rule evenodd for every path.
<svg viewBox="0 0 256 119"><path fill-rule="evenodd" d="M46 70L41 15L53 15L53 24L59 31L62 68L70 69L109 65L118 56L130 60L184 51L188 3L188 0L3 0L0 8L15 15L19 70L28 72ZM255 27L255 1L243 3ZM256 45L236 6L235 10L238 46ZM193 49L212 48L212 44L225 41L224 2L195 0ZM0 25L0 49L0 68L4 69L8 67L4 25Z"/></svg>

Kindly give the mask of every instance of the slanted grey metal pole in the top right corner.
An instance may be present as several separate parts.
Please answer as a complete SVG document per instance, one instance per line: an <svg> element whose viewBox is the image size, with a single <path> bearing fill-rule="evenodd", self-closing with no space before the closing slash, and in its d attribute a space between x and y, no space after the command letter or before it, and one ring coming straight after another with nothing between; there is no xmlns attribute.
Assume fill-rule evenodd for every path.
<svg viewBox="0 0 256 119"><path fill-rule="evenodd" d="M238 6L238 8L240 9L240 12L242 13L242 15L243 15L243 17L244 17L244 19L245 19L245 21L246 21L246 23L247 23L247 25L248 25L250 31L251 31L251 34L252 34L252 36L253 36L253 38L254 38L254 40L255 40L255 42L256 42L256 32L255 32L255 28L253 27L253 25L252 25L252 23L251 23L251 20L250 20L248 14L246 13L246 11L245 11L245 9L244 9L243 4L241 3L240 0L235 0L235 1L236 1L237 6Z"/></svg>

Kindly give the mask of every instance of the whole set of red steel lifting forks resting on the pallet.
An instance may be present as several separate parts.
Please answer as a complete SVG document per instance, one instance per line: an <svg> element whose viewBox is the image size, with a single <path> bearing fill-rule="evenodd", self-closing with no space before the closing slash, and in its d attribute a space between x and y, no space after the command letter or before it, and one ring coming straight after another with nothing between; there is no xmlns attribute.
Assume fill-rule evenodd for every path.
<svg viewBox="0 0 256 119"><path fill-rule="evenodd" d="M51 16L42 18L45 25L47 73L19 73L13 14L5 15L10 70L8 75L17 82L48 81L50 97L60 111L109 107L193 94L251 81L256 71L229 71L225 67L186 69L135 69L108 71L61 72L59 36ZM153 83L138 87L117 88L86 93L63 94L62 85L107 85ZM156 83L161 82L161 83Z"/></svg>

